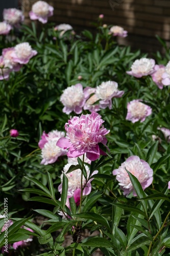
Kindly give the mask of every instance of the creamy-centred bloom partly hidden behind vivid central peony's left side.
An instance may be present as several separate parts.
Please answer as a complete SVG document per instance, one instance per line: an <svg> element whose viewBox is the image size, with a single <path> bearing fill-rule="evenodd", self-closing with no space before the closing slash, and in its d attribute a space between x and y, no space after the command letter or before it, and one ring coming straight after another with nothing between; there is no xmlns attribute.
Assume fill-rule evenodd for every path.
<svg viewBox="0 0 170 256"><path fill-rule="evenodd" d="M61 147L56 146L57 141L65 136L64 132L57 130L52 131L48 134L43 132L41 140L38 145L41 148L41 164L47 165L57 161L60 156L66 155L67 151Z"/></svg>

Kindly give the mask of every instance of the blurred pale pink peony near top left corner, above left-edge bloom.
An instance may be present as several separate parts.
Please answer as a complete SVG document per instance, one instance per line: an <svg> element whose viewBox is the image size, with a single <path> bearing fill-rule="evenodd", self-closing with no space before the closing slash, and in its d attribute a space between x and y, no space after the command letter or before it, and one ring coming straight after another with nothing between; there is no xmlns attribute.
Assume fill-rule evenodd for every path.
<svg viewBox="0 0 170 256"><path fill-rule="evenodd" d="M5 22L16 27L24 20L22 11L15 8L4 9L3 18Z"/></svg>

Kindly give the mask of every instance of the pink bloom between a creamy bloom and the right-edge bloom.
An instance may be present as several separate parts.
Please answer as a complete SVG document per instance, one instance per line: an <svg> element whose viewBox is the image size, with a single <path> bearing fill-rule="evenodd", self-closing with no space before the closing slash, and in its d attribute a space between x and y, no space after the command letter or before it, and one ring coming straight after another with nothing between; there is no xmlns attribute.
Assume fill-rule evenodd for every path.
<svg viewBox="0 0 170 256"><path fill-rule="evenodd" d="M155 65L154 71L155 72L151 74L152 79L159 89L163 89L162 75L165 73L165 66Z"/></svg>

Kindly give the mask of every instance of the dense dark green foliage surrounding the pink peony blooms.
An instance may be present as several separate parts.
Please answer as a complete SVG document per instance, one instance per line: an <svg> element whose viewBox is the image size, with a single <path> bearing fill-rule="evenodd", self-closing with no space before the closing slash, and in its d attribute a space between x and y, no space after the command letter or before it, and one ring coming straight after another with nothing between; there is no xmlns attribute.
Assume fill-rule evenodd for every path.
<svg viewBox="0 0 170 256"><path fill-rule="evenodd" d="M8 227L10 255L92 255L98 248L104 255L169 255L170 134L165 135L161 128L169 128L170 87L160 89L150 74L135 77L126 73L135 59L147 55L119 46L111 26L102 26L102 18L96 24L95 35L87 30L81 35L72 30L61 34L50 23L40 30L34 22L31 27L22 25L7 36L0 35L1 51L22 42L29 42L37 51L19 71L10 71L9 78L0 81L0 213L4 215L8 203L8 219L13 222ZM165 51L165 56L159 52L153 55L158 65L167 64L166 46ZM86 185L93 178L91 192L81 195L78 203L74 196L67 197L68 173L62 174L66 154L42 164L38 142L43 131L44 137L54 130L65 132L70 116L80 117L74 111L63 112L60 97L65 89L78 83L83 90L94 89L106 81L115 81L124 94L113 96L111 109L107 105L98 110L104 127L110 130L107 147L99 143L106 153L85 165L84 157L78 158L67 169L70 173L80 169ZM93 95L90 93L88 99ZM127 105L136 99L152 112L143 121L139 118L132 122L126 118ZM95 105L99 103L100 99L94 101ZM82 109L82 113L91 114L88 109ZM10 135L12 129L19 135ZM112 172L132 156L148 163L146 168L153 170L153 181L143 190L140 178L147 174L138 175L136 167L130 173L128 167L124 168L133 188L123 194L121 182ZM0 230L3 226L4 217ZM81 238L86 229L91 236ZM98 232L93 235L95 230ZM4 232L0 234L0 248L4 246ZM67 233L74 242L64 246ZM30 236L30 246L28 243L14 250L12 244Z"/></svg>

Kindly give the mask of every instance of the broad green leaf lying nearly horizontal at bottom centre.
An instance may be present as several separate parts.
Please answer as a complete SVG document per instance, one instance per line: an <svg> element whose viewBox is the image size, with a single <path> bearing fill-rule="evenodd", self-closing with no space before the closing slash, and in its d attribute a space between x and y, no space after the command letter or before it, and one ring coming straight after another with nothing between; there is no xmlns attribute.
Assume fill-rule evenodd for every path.
<svg viewBox="0 0 170 256"><path fill-rule="evenodd" d="M82 243L81 246L90 246L90 247L113 247L112 243L105 238L90 238L85 243Z"/></svg>

